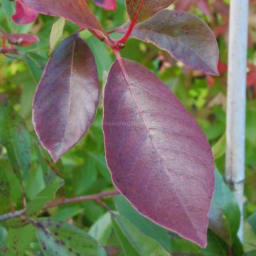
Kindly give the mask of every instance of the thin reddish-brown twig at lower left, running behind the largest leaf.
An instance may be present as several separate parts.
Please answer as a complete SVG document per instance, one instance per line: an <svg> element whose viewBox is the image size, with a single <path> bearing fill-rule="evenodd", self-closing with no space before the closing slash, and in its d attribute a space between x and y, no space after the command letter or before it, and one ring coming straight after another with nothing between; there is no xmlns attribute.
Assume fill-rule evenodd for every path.
<svg viewBox="0 0 256 256"><path fill-rule="evenodd" d="M75 198L65 198L65 200L55 201L52 203L48 203L45 207L43 207L43 210L46 210L48 208L53 208L55 206L63 206L65 204L69 203L79 203L79 202L85 202L90 200L99 201L100 198L106 198L109 196L114 196L119 194L119 191L107 191L102 193L97 193L89 196L77 196ZM23 208L22 210L16 210L14 213L6 213L4 215L0 215L0 221L9 220L11 218L21 217L26 213L26 208Z"/></svg>

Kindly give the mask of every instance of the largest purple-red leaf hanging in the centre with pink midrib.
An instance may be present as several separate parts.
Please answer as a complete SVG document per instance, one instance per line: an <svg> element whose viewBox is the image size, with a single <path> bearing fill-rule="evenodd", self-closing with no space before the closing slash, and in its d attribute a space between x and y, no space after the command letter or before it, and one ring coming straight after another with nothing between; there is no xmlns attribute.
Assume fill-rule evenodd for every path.
<svg viewBox="0 0 256 256"><path fill-rule="evenodd" d="M122 61L112 66L104 97L114 185L142 215L205 247L214 189L210 145L161 80Z"/></svg>

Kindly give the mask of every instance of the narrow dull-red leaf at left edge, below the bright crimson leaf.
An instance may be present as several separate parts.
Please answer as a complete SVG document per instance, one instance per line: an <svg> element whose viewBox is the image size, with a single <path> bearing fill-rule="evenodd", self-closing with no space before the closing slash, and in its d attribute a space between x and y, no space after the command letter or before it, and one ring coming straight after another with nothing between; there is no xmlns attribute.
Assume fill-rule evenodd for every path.
<svg viewBox="0 0 256 256"><path fill-rule="evenodd" d="M9 43L16 44L18 46L31 46L34 43L38 43L39 38L34 35L24 33L7 33L0 28L0 34L6 38Z"/></svg>

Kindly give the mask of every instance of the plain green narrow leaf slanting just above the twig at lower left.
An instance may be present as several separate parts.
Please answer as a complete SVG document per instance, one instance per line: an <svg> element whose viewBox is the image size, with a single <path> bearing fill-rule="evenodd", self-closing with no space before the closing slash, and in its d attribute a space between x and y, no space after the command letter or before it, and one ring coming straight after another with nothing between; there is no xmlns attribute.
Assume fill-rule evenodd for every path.
<svg viewBox="0 0 256 256"><path fill-rule="evenodd" d="M64 181L62 178L55 176L53 181L51 181L46 188L43 189L38 195L33 198L31 202L28 203L27 206L27 215L33 215L37 213L39 210L46 205L46 203L50 202L55 198L55 193L58 189L64 185Z"/></svg>

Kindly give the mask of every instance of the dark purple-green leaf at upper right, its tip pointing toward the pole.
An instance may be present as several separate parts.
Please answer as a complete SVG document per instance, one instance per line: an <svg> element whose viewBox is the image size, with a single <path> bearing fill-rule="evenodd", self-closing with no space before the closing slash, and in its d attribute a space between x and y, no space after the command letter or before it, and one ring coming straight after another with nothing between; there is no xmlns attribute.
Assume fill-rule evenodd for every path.
<svg viewBox="0 0 256 256"><path fill-rule="evenodd" d="M117 28L125 33L129 23ZM184 11L163 10L137 24L132 37L154 43L189 68L218 75L218 43L208 25Z"/></svg>

